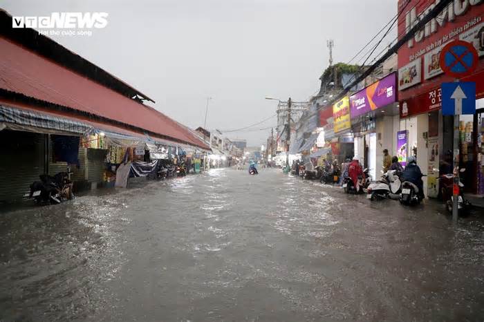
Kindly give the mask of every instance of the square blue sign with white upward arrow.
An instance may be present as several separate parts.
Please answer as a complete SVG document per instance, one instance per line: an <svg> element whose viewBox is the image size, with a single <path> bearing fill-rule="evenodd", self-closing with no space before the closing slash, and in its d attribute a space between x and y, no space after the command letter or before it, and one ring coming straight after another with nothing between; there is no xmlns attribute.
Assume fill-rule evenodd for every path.
<svg viewBox="0 0 484 322"><path fill-rule="evenodd" d="M476 113L476 83L442 83L442 115Z"/></svg>

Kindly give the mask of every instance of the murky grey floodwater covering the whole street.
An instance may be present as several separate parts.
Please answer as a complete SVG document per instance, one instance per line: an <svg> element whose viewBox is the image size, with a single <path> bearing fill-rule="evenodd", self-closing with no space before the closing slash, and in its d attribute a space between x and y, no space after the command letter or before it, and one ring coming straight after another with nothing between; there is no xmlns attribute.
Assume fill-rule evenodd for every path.
<svg viewBox="0 0 484 322"><path fill-rule="evenodd" d="M482 321L484 222L263 169L0 216L0 321Z"/></svg>

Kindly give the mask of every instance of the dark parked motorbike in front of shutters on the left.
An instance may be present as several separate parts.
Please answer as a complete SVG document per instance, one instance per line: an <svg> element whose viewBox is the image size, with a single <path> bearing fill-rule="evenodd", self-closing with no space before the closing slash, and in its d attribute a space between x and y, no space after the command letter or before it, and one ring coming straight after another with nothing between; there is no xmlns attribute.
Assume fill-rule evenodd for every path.
<svg viewBox="0 0 484 322"><path fill-rule="evenodd" d="M24 198L34 199L37 205L43 203L57 205L62 201L73 199L71 174L70 171L62 171L55 176L40 175L40 181L30 184L30 193L26 193Z"/></svg>

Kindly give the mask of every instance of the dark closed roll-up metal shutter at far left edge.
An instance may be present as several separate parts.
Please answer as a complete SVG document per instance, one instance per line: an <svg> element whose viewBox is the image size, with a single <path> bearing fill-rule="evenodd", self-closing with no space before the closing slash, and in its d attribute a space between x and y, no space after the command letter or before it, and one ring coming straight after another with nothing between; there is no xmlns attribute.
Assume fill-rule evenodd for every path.
<svg viewBox="0 0 484 322"><path fill-rule="evenodd" d="M0 131L0 204L21 200L45 173L44 134Z"/></svg>

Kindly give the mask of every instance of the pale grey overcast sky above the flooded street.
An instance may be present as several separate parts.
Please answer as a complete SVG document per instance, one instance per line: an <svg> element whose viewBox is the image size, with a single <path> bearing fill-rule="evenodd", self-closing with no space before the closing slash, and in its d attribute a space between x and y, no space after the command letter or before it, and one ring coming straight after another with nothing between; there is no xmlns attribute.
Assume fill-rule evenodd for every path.
<svg viewBox="0 0 484 322"><path fill-rule="evenodd" d="M230 130L275 113L264 97L308 100L328 66L347 62L396 14L396 0L7 0L11 15L108 12L91 37L52 37L156 101L178 122ZM393 37L396 33L393 31ZM393 39L392 37L392 39ZM380 50L378 50L379 52ZM254 127L276 124L272 120ZM270 130L233 133L249 144Z"/></svg>

